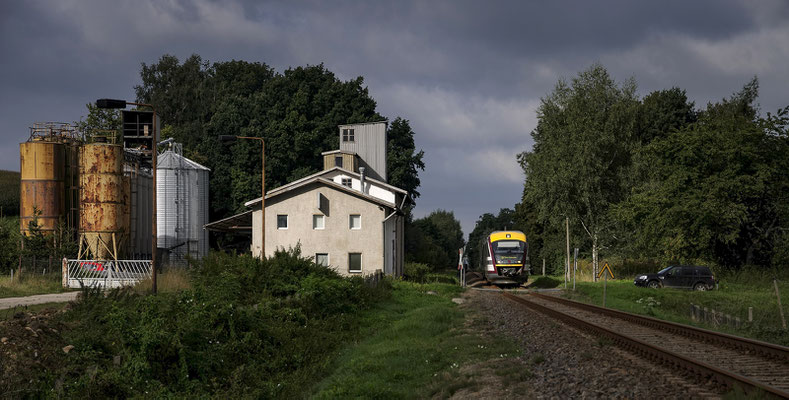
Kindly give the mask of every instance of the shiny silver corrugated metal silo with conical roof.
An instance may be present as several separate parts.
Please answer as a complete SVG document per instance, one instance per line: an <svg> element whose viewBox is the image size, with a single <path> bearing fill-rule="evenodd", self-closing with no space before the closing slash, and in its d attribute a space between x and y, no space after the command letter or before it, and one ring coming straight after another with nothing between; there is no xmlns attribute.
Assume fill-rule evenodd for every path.
<svg viewBox="0 0 789 400"><path fill-rule="evenodd" d="M156 167L158 247L162 262L186 265L208 253L208 168L184 157L173 144Z"/></svg>

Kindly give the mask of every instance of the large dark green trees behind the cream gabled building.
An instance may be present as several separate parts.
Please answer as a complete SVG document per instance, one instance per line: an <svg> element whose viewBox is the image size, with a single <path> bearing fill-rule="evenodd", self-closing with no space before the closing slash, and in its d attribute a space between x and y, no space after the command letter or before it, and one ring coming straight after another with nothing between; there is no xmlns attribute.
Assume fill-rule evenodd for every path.
<svg viewBox="0 0 789 400"><path fill-rule="evenodd" d="M163 132L184 144L187 157L212 169L212 218L227 216L260 193L260 146L222 146L219 135L266 139L266 187L322 169L321 152L339 147L337 125L384 119L361 77L339 80L323 65L276 73L263 63L209 64L198 55L183 63L164 55L142 64L139 102L153 104ZM423 153L416 152L408 121L389 129L390 183L418 195Z"/></svg>

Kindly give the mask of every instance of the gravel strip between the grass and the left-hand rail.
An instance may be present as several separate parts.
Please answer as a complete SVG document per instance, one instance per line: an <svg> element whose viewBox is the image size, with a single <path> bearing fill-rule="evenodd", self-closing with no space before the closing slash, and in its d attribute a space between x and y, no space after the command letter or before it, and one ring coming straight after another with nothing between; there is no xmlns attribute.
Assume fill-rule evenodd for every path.
<svg viewBox="0 0 789 400"><path fill-rule="evenodd" d="M492 334L515 338L531 370L535 398L718 398L666 367L536 313L498 293L468 290L468 307L484 313Z"/></svg>

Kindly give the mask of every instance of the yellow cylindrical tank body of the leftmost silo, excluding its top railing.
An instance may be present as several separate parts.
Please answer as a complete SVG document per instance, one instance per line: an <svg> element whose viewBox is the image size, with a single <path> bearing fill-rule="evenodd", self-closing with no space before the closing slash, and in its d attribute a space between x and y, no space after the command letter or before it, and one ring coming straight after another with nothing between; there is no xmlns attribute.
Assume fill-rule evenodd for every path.
<svg viewBox="0 0 789 400"><path fill-rule="evenodd" d="M29 235L29 224L38 218L44 234L51 234L65 214L65 146L51 138L32 137L19 144L21 186L19 225Z"/></svg>

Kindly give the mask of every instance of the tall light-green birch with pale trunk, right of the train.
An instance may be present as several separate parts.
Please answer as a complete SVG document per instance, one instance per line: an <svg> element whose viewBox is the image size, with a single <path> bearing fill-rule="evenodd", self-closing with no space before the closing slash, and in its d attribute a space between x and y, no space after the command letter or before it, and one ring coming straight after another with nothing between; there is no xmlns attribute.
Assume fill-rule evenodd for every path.
<svg viewBox="0 0 789 400"><path fill-rule="evenodd" d="M618 85L600 65L560 80L542 99L532 151L519 155L526 174L524 201L544 225L569 217L598 253L611 237L609 209L627 193L639 102L633 80ZM580 225L578 228L577 225Z"/></svg>

